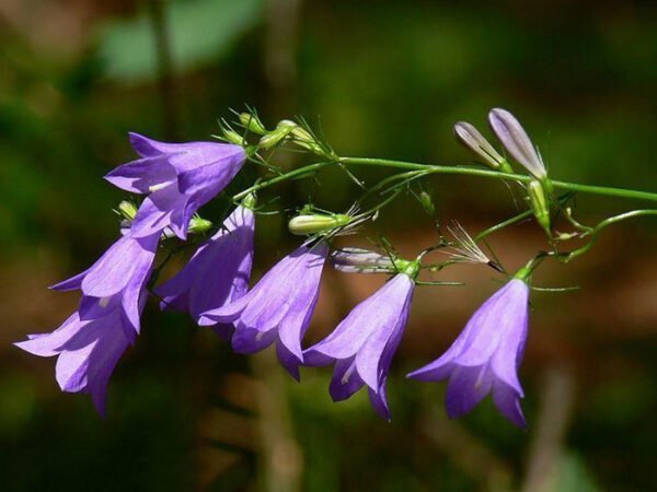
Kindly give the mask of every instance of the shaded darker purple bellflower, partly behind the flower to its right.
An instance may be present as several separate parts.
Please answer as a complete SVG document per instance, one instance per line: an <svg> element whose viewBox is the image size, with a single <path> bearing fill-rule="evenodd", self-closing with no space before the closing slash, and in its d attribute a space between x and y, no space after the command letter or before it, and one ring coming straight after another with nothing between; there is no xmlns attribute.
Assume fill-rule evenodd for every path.
<svg viewBox="0 0 657 492"><path fill-rule="evenodd" d="M162 297L161 307L188 311L198 323L205 312L242 297L249 290L254 227L253 212L239 206L185 268L155 290ZM228 327L215 328L228 335Z"/></svg>

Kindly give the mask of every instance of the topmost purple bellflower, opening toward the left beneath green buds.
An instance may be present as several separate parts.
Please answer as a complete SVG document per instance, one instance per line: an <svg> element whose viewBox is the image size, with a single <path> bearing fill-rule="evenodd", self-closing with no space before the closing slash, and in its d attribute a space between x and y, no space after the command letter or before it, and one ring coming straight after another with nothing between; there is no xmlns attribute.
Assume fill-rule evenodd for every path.
<svg viewBox="0 0 657 492"><path fill-rule="evenodd" d="M141 159L105 176L113 185L148 197L132 221L142 237L170 226L182 239L194 213L238 174L246 154L240 145L215 142L164 143L130 133Z"/></svg>

